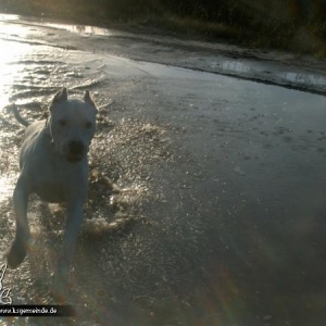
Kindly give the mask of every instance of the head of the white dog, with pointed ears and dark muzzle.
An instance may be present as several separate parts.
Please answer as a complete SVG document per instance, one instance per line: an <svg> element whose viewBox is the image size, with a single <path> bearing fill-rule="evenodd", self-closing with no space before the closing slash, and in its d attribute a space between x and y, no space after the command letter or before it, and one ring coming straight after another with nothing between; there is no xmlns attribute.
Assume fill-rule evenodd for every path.
<svg viewBox="0 0 326 326"><path fill-rule="evenodd" d="M49 128L57 150L72 163L83 160L96 130L97 108L87 90L83 100L68 99L66 88L50 105Z"/></svg>

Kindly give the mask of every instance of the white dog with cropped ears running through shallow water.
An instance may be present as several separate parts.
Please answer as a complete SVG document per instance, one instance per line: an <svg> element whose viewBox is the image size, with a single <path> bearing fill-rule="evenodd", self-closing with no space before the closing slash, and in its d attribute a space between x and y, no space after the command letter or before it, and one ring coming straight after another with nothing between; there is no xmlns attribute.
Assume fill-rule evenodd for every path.
<svg viewBox="0 0 326 326"><path fill-rule="evenodd" d="M67 203L64 250L58 265L59 277L67 279L88 191L87 153L96 129L97 108L89 91L83 100L76 100L68 99L63 88L54 96L47 121L29 124L15 106L13 111L27 128L20 154L21 175L13 193L16 234L8 265L17 267L28 250L27 201L35 192L45 201Z"/></svg>

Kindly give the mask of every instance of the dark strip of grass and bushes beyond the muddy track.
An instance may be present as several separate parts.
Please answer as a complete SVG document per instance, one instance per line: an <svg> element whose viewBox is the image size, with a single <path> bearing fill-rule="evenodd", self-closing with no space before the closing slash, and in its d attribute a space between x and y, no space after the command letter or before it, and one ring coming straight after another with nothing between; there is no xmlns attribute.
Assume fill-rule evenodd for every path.
<svg viewBox="0 0 326 326"><path fill-rule="evenodd" d="M326 0L2 0L0 11L326 57Z"/></svg>

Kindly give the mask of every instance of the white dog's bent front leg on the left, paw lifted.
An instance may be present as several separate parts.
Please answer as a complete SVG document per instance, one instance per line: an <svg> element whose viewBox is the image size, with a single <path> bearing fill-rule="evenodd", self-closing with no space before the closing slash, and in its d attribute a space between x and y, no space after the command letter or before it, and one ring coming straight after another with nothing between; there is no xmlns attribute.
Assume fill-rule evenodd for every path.
<svg viewBox="0 0 326 326"><path fill-rule="evenodd" d="M10 268L16 268L23 262L28 249L28 240L30 237L27 222L28 195L29 192L25 187L25 183L22 176L20 176L13 195L16 235L8 254L8 265Z"/></svg>

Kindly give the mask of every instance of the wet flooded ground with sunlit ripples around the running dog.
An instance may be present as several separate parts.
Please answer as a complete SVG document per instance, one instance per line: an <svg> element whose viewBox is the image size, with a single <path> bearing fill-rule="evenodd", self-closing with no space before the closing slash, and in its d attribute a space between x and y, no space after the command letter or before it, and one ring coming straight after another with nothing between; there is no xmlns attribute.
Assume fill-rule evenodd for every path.
<svg viewBox="0 0 326 326"><path fill-rule="evenodd" d="M123 57L124 47L139 60L140 48L154 57L162 45L147 41L145 48L130 35L1 20L3 253L13 239L11 195L22 139L9 103L38 118L66 86L72 96L90 89L100 112L72 271L77 316L0 325L324 325L323 96L148 57L133 61ZM180 63L180 51L170 49L170 63ZM200 53L184 60L197 63L193 58ZM264 71L264 62L246 64ZM265 64L268 75L280 67L298 75ZM321 72L309 76L308 89L325 89ZM64 215L64 208L32 198L33 250L3 279L14 303L53 302L49 284Z"/></svg>

